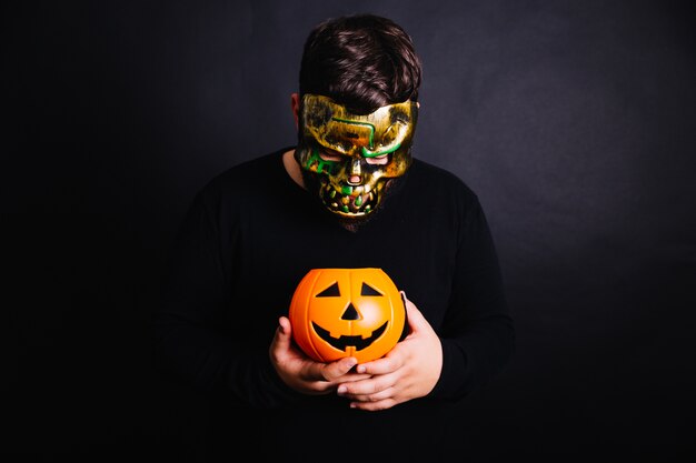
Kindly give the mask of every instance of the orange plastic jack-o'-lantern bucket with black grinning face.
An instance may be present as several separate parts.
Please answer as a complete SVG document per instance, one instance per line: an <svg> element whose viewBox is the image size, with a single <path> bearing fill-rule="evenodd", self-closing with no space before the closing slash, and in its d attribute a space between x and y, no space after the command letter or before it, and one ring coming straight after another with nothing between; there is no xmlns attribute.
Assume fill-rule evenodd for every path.
<svg viewBox="0 0 696 463"><path fill-rule="evenodd" d="M379 359L399 341L404 301L381 269L314 269L292 295L292 336L307 355L331 362Z"/></svg>

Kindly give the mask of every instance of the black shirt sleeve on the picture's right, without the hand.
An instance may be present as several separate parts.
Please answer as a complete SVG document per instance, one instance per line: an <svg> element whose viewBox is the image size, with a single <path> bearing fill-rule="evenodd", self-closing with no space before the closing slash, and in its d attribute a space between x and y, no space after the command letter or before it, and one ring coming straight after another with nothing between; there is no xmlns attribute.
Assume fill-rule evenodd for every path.
<svg viewBox="0 0 696 463"><path fill-rule="evenodd" d="M449 308L440 333L443 370L430 395L459 400L493 379L515 350L498 256L476 195L465 203Z"/></svg>

